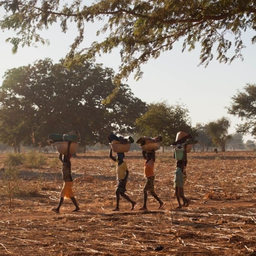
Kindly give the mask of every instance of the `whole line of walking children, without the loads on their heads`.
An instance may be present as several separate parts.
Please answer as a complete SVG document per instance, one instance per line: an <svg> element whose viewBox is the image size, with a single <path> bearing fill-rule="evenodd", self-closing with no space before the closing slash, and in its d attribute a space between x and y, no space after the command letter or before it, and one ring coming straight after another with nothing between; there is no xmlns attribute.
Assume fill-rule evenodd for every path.
<svg viewBox="0 0 256 256"><path fill-rule="evenodd" d="M69 147L68 147L69 148ZM116 208L113 209L113 211L119 211L119 203L120 203L120 196L122 196L124 199L129 201L131 203L131 210L134 210L138 203L136 201L133 201L127 194L126 192L126 183L127 183L127 178L129 175L129 170L127 167L126 162L124 161L124 153L117 153L116 157L113 156L112 154L112 148L110 148L109 151L109 157L116 162L116 176L117 176L117 187L116 187ZM144 163L144 176L146 178L146 183L143 188L143 206L139 208L140 211L147 211L147 199L148 199L148 194L151 194L156 201L159 203L158 209L162 209L165 207L165 204L156 194L155 192L155 186L154 186L154 180L155 180L155 172L154 172L154 164L156 160L156 153L155 150L148 150L144 151L142 150L142 156L145 159ZM60 201L58 204L57 208L53 208L52 211L59 213L60 212L60 207L64 201L64 198L70 198L75 205L75 209L73 212L79 212L80 208L76 202L76 198L73 194L72 191L72 186L73 186L73 180L71 176L71 162L70 162L70 157L71 155L63 155L60 154L59 158L60 161L62 162L62 179L63 179L63 188L60 192ZM176 161L176 171L174 175L174 195L177 198L178 201L178 207L176 208L182 208L188 207L188 205L191 203L190 199L187 199L184 196L184 180L186 179L186 164L187 160L177 160ZM183 204L180 203L180 198L182 198Z"/></svg>

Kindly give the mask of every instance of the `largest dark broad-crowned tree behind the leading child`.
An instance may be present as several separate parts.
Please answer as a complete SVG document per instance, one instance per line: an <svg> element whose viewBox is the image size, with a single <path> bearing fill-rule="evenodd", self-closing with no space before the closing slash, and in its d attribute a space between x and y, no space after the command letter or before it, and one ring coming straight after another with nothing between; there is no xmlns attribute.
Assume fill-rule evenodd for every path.
<svg viewBox="0 0 256 256"><path fill-rule="evenodd" d="M93 145L106 143L110 132L132 132L146 103L121 84L115 100L104 105L102 101L115 89L113 70L87 62L68 70L63 61L39 60L6 71L0 87L0 139L4 143L43 146L50 133L77 129L81 145Z"/></svg>

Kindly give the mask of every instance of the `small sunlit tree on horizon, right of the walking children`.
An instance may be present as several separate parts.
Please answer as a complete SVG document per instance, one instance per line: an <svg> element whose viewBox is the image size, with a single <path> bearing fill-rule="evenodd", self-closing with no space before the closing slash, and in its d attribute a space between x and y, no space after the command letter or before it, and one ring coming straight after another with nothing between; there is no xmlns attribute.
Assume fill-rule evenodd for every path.
<svg viewBox="0 0 256 256"><path fill-rule="evenodd" d="M231 139L232 136L228 134L230 127L230 120L226 117L221 117L216 121L207 123L207 134L212 138L215 145L219 145L221 150L225 152L226 141Z"/></svg>

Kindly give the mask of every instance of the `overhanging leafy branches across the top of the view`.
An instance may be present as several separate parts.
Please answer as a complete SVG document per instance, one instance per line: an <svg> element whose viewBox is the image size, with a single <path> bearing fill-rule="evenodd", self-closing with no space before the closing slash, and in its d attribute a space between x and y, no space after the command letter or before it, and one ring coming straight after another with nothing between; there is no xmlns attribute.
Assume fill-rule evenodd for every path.
<svg viewBox="0 0 256 256"><path fill-rule="evenodd" d="M186 48L191 51L196 43L200 44L199 64L207 66L212 60L214 44L216 59L220 62L243 58L242 34L247 29L256 30L254 0L100 0L90 6L81 0L64 5L59 0L13 0L0 1L0 7L4 13L0 19L1 28L12 29L17 34L7 39L13 44L13 52L20 44L47 43L40 32L55 22L60 23L64 33L69 22L77 25L77 37L67 55L67 65L94 60L96 54L121 48L122 63L115 76L116 82L133 71L135 78L140 78L141 64L172 50L173 44L180 39L183 40L182 51ZM104 22L97 34L107 33L107 36L102 42L83 48L85 23L95 20ZM256 36L253 36L252 43L255 41Z"/></svg>

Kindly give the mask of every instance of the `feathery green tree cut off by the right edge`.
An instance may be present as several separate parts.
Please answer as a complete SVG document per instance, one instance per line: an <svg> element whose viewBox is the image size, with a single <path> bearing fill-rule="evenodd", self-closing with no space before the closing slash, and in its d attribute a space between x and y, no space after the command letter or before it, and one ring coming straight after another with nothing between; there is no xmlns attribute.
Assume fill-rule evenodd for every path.
<svg viewBox="0 0 256 256"><path fill-rule="evenodd" d="M256 136L256 84L247 83L243 91L231 97L232 103L228 107L228 114L240 117L244 124L238 124L236 132Z"/></svg>

